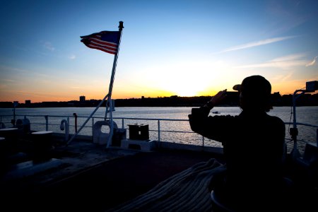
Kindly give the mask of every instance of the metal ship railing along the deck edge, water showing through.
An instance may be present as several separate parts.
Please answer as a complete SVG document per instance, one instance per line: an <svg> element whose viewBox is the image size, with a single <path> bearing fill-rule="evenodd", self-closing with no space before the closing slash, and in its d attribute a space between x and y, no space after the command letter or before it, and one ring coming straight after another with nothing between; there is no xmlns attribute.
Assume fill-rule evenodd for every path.
<svg viewBox="0 0 318 212"><path fill-rule="evenodd" d="M12 115L2 115L0 116L0 123L2 126L6 127L12 127L12 120L11 120ZM46 130L46 131L54 131L56 133L63 133L61 131L61 125L64 124L64 126L67 125L67 128L69 129L68 133L69 134L75 134L78 126L81 126L83 122L87 119L87 116L77 116L77 114L73 114L73 116L65 116L65 115L20 115L16 114L16 121L18 119L28 119L30 122L30 129L33 131L39 131L39 130ZM104 120L104 117L92 117L90 124L87 124L86 126L83 127L83 130L81 132L81 135L86 135L86 136L92 136L93 135L93 126L95 122L98 120ZM188 119L152 119L152 118L134 118L134 117L113 117L114 122L117 122L117 126L122 129L129 129L125 126L128 126L129 124L136 124L136 122L143 122L143 124L149 124L149 136L151 139L156 140L156 141L167 141L166 138L163 138L163 134L182 134L182 136L179 136L184 140L184 135L185 134L191 134L189 136L189 141L193 140L194 137L194 132L189 129L189 120ZM64 123L62 123L64 122ZM165 124L163 124L165 122ZM169 122L170 124L167 124ZM171 122L179 122L183 123L181 126L187 126L183 127L186 128L186 130L183 130L182 127L181 129L179 127L174 127L176 126L175 124L171 124ZM119 124L120 123L120 124ZM293 122L285 122L286 125L291 125L293 126ZM315 141L312 140L310 143L315 143L315 146L318 146L318 126L313 125L313 124L305 124L305 123L296 123L298 126L306 126L306 127L311 127L315 128ZM170 125L167 126L167 125ZM180 124L179 124L180 125ZM0 126L1 127L1 126ZM172 129L180 129L180 130L172 130ZM105 129L107 130L107 129ZM288 129L286 129L288 130ZM66 131L65 131L66 132ZM312 131L311 131L312 132ZM129 131L127 131L127 135L129 135ZM292 142L293 139L290 139L288 137L289 132L286 133L286 142ZM204 138L204 136L196 136L196 145L199 146L220 146L220 143L218 142L210 142L210 139ZM170 138L171 136L169 136ZM174 136L172 136L175 138ZM187 137L187 136L186 136ZM191 138L190 138L191 137ZM172 139L170 142L176 142L177 139ZM303 139L298 139L299 142L307 142ZM184 143L187 143L187 139L184 141ZM194 144L194 143L191 143Z"/></svg>

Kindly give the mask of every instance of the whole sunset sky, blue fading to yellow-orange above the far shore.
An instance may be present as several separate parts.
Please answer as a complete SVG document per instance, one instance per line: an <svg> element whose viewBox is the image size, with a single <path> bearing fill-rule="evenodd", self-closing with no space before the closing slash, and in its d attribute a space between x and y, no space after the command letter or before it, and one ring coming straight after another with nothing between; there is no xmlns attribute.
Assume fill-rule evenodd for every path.
<svg viewBox="0 0 318 212"><path fill-rule="evenodd" d="M113 54L81 35L124 22L112 98L215 95L259 74L318 81L318 1L1 0L0 102L100 100Z"/></svg>

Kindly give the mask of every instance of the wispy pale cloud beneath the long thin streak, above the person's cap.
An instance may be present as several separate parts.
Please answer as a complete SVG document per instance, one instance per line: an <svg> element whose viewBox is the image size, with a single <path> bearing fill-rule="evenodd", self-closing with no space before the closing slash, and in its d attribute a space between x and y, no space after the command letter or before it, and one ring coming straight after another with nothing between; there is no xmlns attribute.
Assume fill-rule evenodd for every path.
<svg viewBox="0 0 318 212"><path fill-rule="evenodd" d="M281 68L281 69L289 69L295 66L305 66L308 61L303 59L305 54L290 54L284 57L278 57L276 59L272 59L270 61L266 61L260 64L249 64L245 66L237 66L237 68Z"/></svg>

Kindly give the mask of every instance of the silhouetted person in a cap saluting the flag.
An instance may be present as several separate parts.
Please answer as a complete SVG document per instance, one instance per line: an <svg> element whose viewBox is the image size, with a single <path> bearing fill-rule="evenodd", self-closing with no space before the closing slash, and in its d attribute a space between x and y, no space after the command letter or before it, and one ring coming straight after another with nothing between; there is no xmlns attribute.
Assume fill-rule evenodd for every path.
<svg viewBox="0 0 318 212"><path fill-rule="evenodd" d="M222 142L227 170L213 182L218 198L239 211L252 206L262 211L281 203L285 195L285 124L266 113L272 109L266 78L249 76L233 89L240 92L239 115L209 115L226 98L222 90L203 107L192 109L189 124L194 132Z"/></svg>

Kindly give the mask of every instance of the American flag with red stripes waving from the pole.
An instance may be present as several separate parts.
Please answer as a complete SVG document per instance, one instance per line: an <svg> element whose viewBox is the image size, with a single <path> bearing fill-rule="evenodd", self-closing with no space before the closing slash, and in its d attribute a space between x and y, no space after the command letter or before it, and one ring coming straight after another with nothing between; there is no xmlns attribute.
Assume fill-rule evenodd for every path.
<svg viewBox="0 0 318 212"><path fill-rule="evenodd" d="M102 31L91 35L81 36L81 42L91 49L99 49L110 54L117 54L120 32Z"/></svg>

